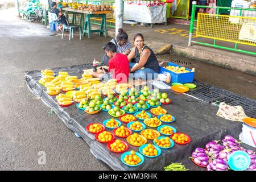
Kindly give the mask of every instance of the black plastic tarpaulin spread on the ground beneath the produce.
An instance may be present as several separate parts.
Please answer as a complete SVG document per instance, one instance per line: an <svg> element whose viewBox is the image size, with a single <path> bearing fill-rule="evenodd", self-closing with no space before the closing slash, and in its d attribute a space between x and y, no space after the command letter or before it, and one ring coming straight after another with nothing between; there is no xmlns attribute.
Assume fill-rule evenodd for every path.
<svg viewBox="0 0 256 182"><path fill-rule="evenodd" d="M76 75L81 77L83 73L82 70L90 67L91 65L84 64L72 67L52 68L52 70L56 74L59 71L65 71L71 76ZM39 70L25 73L24 79L28 89L30 89L36 97L40 97L44 104L51 107L69 129L81 135L82 139L90 146L94 156L108 164L108 166L114 170L163 170L164 166L168 166L172 162L180 162L181 160L185 166L186 164L191 166L192 162L188 157L196 147L204 147L210 140L223 138L227 134L238 138L241 132L242 123L228 121L218 117L216 115L217 107L213 107L207 102L197 100L196 98L184 94L177 94L171 90L160 90L160 92L167 92L168 97L172 100L172 104L162 105L162 107L176 118L175 122L167 125L175 127L177 132L188 134L192 140L186 145L175 144L174 147L170 149L162 149L162 154L156 158L144 157L145 160L141 166L129 167L121 162L120 158L122 154L109 151L106 144L98 142L94 139L94 134L89 133L85 129L89 123L102 123L105 119L112 118L112 116L102 110L97 114L86 114L84 111L79 110L76 104L68 107L59 106L55 96L49 96L46 93L46 88L39 84L39 73ZM146 111L150 112L150 109ZM122 125L126 126L125 123L122 123ZM112 131L109 129L106 130ZM126 139L121 140L126 141ZM148 143L152 143L152 140L148 140ZM129 151L138 151L138 148L139 147L134 147L129 144ZM189 169L200 170L196 165L193 165Z"/></svg>

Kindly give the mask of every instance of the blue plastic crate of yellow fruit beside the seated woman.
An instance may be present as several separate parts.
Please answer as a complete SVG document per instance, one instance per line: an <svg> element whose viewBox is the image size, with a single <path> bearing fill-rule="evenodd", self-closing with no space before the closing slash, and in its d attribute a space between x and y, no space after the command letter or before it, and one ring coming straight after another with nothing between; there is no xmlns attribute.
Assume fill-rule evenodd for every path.
<svg viewBox="0 0 256 182"><path fill-rule="evenodd" d="M179 68L181 67L180 65L170 63L170 62L168 63L168 66L174 66ZM195 72L191 72L191 70L187 68L186 70L189 71L189 73L175 73L175 72L169 71L166 68L159 67L159 73L163 73L163 72L171 73L171 82L179 82L181 84L193 82Z"/></svg>

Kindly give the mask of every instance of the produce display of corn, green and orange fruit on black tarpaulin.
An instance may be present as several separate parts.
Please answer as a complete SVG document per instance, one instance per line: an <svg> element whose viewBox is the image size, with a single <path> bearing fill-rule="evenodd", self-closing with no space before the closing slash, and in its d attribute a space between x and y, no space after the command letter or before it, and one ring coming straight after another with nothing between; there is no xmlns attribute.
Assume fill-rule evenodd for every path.
<svg viewBox="0 0 256 182"><path fill-rule="evenodd" d="M98 159L108 164L112 169L162 170L164 166L168 166L171 162L180 162L181 160L183 160L185 165L191 164L192 161L188 157L191 156L192 151L195 150L196 147L204 147L210 140L224 138L227 134L236 137L240 134L242 123L228 121L218 117L216 115L218 108L211 106L207 102L174 92L170 89L160 89L159 94L159 92L154 89L154 86L152 86L152 89L148 90L144 85L140 86L140 88L131 89L133 88L132 85L118 86L114 81L102 83L91 78L89 74L84 72L84 70L89 68L91 68L91 65L85 64L72 67L53 68L51 71L29 71L25 74L25 80L28 89L30 89L36 97L40 97L48 107L55 111L69 129L80 134L82 139L84 139L90 146L92 153ZM169 68L167 67L166 69ZM175 70L172 69L172 71ZM114 92L113 90L108 90L107 86L104 84L108 84L108 86L114 85ZM207 85L197 81L194 81L194 84L197 85L197 88L193 89L194 91L197 89L204 89ZM148 84L148 86L150 87L150 84ZM80 90L77 91L75 88L80 88ZM128 93L122 92L122 90L125 90L124 88L130 88L127 90ZM211 88L214 88L214 86L211 86ZM60 89L62 91L60 91ZM136 89L137 91L135 91ZM99 90L101 90L101 92L99 92ZM123 100L120 100L121 96ZM155 96L158 97L153 100L153 97ZM133 97L133 99L131 97ZM114 98L116 100L114 100ZM146 102L146 98L151 101ZM169 100L167 100L167 98ZM106 100L108 102L105 102ZM124 102L124 100L126 100L126 102ZM141 102L141 100L145 102ZM109 106L110 102L112 102L112 104ZM117 104L117 102L119 102L119 104ZM133 102L134 104L132 104L131 107L128 104L130 102ZM137 104L135 104L135 102L137 102ZM99 106L97 106L98 104ZM141 104L141 106L138 106L138 104ZM103 107L102 105L105 106ZM121 110L117 107L121 107ZM131 110L127 110L126 107L129 107ZM115 111L115 109L118 111ZM139 111L140 116L134 113L137 110ZM165 111L167 113L165 113ZM158 121L158 123L148 123L150 120L146 121L146 119L144 119L143 122L142 119L142 126L145 125L143 129L151 131L152 133L159 133L160 136L163 136L164 138L169 136L175 143L172 142L170 147L160 149L160 146L158 147L158 144L155 144L155 147L158 149L156 155L154 152L152 156L147 156L147 154L144 154L143 152L143 147L134 146L136 140L131 141L128 138L131 138L131 135L133 135L133 138L136 137L136 134L143 135L148 138L146 143L151 144L150 147L152 147L154 142L158 143L158 141L150 138L150 134L148 134L149 136L145 134L146 130L132 131L131 133L127 133L129 137L127 137L127 135L120 137L116 132L118 128L119 131L121 131L124 128L132 130L133 127L129 126L129 118L127 118L128 121L126 121L125 118L117 117L118 112L119 116L124 113L132 113L131 115L134 116L131 117L131 119L134 117L138 117L138 119L139 117L143 117L141 115L143 112L149 113L152 118L154 118L154 121ZM159 117L159 119L155 119L160 114L159 112L170 114L172 117L171 119L170 117ZM162 123L159 122L161 119ZM112 122L117 126L112 125ZM91 128L92 123L97 123L97 126ZM104 125L104 127L100 127L100 125ZM172 130L169 131L171 131L172 134L183 133L187 139L183 138L180 141L175 140L174 137L170 136L171 133L167 134L167 131L163 131L166 129L163 128L163 125L169 127L169 129L171 128ZM113 146L111 146L111 144L103 143L104 141L102 138L98 137L99 134L97 131L103 131L102 129L109 132L107 134L112 135L112 137L108 136L109 140L107 142L115 137L115 139L119 139L123 143L126 143L128 147L123 148L122 145L119 149L121 151L112 151L114 150L112 148ZM126 130L124 133L130 130ZM159 135L157 135L157 137L159 137ZM104 140L106 142L106 139ZM184 142L182 143L183 140ZM120 141L115 140L117 143L113 145L116 146ZM141 140L137 141L141 142ZM129 154L131 154L131 151L133 150L136 151L135 154L139 156L139 158L142 156L141 160L143 159L143 162L139 162L137 166L133 166L133 164L130 164L131 166L127 165L124 161L125 157L122 158L123 152L128 151L130 152ZM196 165L190 169L202 170L202 168L197 167Z"/></svg>

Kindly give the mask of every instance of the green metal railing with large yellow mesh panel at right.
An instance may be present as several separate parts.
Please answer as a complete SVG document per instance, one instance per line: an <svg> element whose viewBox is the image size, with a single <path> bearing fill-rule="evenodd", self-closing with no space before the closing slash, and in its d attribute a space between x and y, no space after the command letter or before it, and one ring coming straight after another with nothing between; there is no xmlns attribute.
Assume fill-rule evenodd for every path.
<svg viewBox="0 0 256 182"><path fill-rule="evenodd" d="M217 14L197 14L195 19L196 7L198 8L214 8ZM220 9L229 9L239 11L239 15L219 15ZM196 22L196 27L194 27ZM202 38L213 39L213 44L203 43L192 40L193 30L196 30L196 36ZM210 46L221 48L229 51L236 51L256 55L256 52L245 51L237 48L237 44L245 44L248 46L256 46L256 10L255 9L241 9L232 7L209 7L196 5L193 2L191 24L189 29L188 46L191 43L200 44L203 46ZM234 48L218 46L216 40L234 43ZM255 48L256 49L256 48Z"/></svg>

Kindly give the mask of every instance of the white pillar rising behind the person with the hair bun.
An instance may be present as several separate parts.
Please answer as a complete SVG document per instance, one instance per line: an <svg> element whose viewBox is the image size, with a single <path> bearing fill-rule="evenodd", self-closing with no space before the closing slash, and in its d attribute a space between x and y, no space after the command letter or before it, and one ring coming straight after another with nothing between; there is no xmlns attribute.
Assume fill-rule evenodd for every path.
<svg viewBox="0 0 256 182"><path fill-rule="evenodd" d="M115 0L115 36L118 28L123 27L123 0Z"/></svg>

